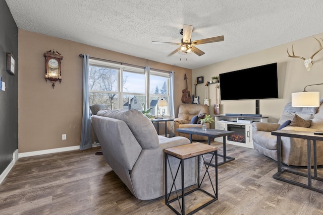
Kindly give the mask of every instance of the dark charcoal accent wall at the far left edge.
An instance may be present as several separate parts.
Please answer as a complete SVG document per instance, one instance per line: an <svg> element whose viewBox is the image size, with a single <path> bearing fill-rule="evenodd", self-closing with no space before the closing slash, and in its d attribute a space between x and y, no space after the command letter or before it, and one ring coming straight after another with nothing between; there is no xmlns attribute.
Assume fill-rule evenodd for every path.
<svg viewBox="0 0 323 215"><path fill-rule="evenodd" d="M15 76L7 71L7 52L15 62ZM0 90L0 174L18 149L18 28L5 0L0 0L0 77L6 91Z"/></svg>

